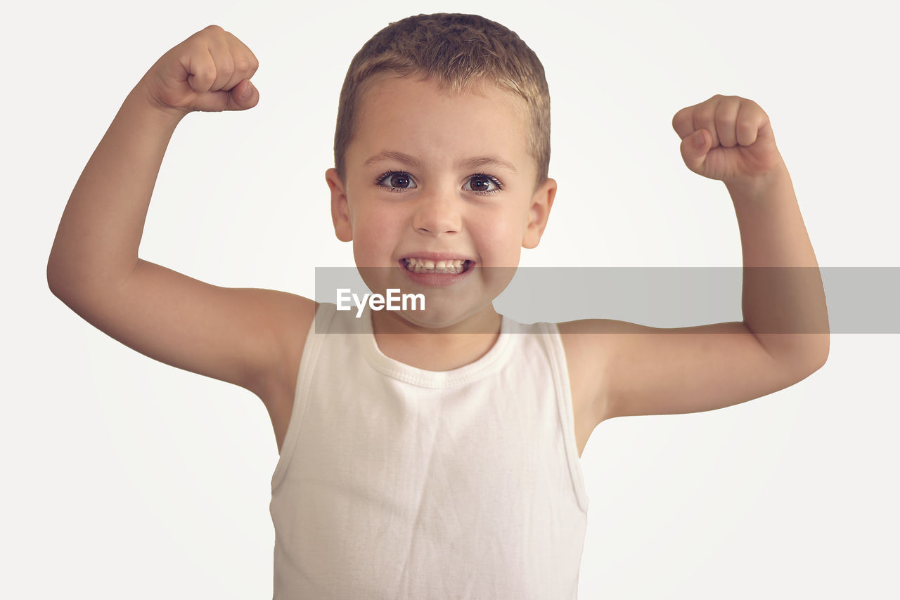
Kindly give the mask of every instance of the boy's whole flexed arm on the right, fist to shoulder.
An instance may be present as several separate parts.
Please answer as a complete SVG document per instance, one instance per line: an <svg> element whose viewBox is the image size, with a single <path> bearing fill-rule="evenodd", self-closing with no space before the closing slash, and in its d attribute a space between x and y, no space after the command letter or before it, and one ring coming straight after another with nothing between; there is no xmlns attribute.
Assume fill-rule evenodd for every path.
<svg viewBox="0 0 900 600"><path fill-rule="evenodd" d="M733 406L803 380L828 356L822 278L768 115L751 100L716 95L677 112L672 126L685 165L732 196L744 319L671 329L561 323L573 354L596 373L587 392L594 424ZM571 335L579 333L601 335Z"/></svg>

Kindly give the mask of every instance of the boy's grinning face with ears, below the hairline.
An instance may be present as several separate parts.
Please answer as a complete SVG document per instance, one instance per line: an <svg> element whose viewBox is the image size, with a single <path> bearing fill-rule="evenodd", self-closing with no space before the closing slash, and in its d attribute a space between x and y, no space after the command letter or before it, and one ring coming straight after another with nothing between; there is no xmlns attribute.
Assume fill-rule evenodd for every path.
<svg viewBox="0 0 900 600"><path fill-rule="evenodd" d="M492 311L521 248L537 246L556 193L552 179L535 189L524 103L492 85L451 96L432 81L383 74L358 105L347 173L326 178L335 233L353 240L365 283L424 293L424 312L398 313L420 327ZM466 261L464 273L410 273L407 259L432 254Z"/></svg>

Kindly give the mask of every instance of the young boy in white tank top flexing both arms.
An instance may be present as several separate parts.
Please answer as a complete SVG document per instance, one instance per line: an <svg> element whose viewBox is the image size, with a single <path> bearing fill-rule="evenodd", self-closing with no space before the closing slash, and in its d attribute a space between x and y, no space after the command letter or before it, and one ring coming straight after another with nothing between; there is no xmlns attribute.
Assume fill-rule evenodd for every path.
<svg viewBox="0 0 900 600"><path fill-rule="evenodd" d="M788 171L765 112L735 96L672 124L685 164L734 202L743 322L500 316L492 300L554 203L550 101L535 54L473 15L410 17L365 44L326 173L335 233L368 287L421 293L424 307L356 318L139 259L178 122L255 106L257 66L212 25L148 70L76 184L48 281L123 344L263 400L280 452L276 598L573 598L579 458L600 422L732 406L824 364L824 291ZM785 266L805 268L770 268Z"/></svg>

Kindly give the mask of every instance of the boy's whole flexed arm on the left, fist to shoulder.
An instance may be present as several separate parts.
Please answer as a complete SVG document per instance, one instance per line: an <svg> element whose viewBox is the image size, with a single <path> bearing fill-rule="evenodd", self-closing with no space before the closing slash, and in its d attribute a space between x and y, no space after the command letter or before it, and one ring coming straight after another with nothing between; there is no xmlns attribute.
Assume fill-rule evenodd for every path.
<svg viewBox="0 0 900 600"><path fill-rule="evenodd" d="M306 315L314 303L277 291L220 288L138 256L175 127L189 112L255 106L259 96L249 78L257 67L247 46L216 25L159 58L78 179L47 280L76 313L140 353L264 394L266 372L282 353L284 323L276 326L277 317Z"/></svg>

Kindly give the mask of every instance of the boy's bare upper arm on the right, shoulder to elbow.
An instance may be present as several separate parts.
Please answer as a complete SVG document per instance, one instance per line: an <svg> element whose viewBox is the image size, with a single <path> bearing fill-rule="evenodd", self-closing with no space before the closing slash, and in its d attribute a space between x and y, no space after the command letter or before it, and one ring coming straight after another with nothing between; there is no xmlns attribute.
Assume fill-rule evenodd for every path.
<svg viewBox="0 0 900 600"><path fill-rule="evenodd" d="M599 332L591 346L602 363L595 400L601 421L730 407L783 390L821 366L771 356L743 322L671 329L590 323L582 330Z"/></svg>

